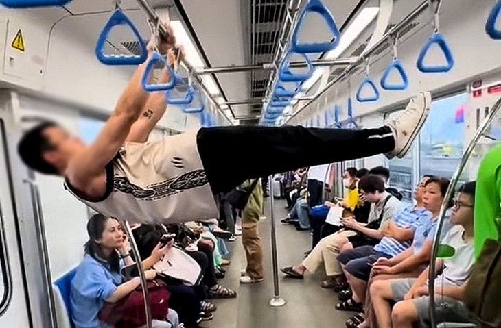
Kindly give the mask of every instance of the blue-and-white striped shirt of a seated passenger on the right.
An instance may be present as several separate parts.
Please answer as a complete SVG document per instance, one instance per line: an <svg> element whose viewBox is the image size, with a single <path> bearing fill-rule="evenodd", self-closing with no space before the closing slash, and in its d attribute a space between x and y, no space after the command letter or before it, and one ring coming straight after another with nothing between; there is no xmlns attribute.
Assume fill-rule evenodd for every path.
<svg viewBox="0 0 501 328"><path fill-rule="evenodd" d="M429 216L430 214L424 208L417 209L414 206L406 207L403 211L399 212L393 219L397 227L409 228L415 225L417 221L421 220L421 217ZM412 227L413 228L413 227ZM410 247L412 240L406 242L400 242L395 238L383 237L381 242L374 247L374 251L385 253L387 255L395 256L399 253L405 251Z"/></svg>

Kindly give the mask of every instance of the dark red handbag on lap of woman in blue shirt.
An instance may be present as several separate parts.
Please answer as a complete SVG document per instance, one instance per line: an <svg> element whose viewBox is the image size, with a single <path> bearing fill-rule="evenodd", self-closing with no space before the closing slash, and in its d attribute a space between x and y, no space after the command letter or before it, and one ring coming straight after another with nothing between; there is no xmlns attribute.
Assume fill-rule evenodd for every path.
<svg viewBox="0 0 501 328"><path fill-rule="evenodd" d="M167 285L160 279L148 281L148 297L152 319L165 320L169 313L170 299ZM141 286L116 303L104 303L98 318L114 327L137 328L145 325L146 314Z"/></svg>

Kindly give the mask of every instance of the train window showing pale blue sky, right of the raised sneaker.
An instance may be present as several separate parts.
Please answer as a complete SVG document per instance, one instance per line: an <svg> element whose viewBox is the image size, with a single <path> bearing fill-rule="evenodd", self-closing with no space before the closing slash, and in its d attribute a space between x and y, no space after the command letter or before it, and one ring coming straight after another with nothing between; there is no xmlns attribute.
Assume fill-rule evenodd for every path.
<svg viewBox="0 0 501 328"><path fill-rule="evenodd" d="M432 103L430 117L421 131L421 174L450 179L463 155L467 94L457 94Z"/></svg>

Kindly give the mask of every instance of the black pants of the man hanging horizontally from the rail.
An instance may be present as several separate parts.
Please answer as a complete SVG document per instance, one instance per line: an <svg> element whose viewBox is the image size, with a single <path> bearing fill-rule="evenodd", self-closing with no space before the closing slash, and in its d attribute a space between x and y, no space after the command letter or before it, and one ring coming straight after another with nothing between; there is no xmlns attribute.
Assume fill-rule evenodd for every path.
<svg viewBox="0 0 501 328"><path fill-rule="evenodd" d="M238 126L202 128L197 146L212 192L218 194L247 179L388 153L395 149L395 139L389 127Z"/></svg>

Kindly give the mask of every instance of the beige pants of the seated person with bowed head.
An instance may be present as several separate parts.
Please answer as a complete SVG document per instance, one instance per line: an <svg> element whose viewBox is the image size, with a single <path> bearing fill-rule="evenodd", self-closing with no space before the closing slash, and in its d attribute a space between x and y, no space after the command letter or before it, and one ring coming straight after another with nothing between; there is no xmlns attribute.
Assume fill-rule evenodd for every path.
<svg viewBox="0 0 501 328"><path fill-rule="evenodd" d="M348 237L355 236L357 233L352 230L342 229L336 234L331 234L322 238L312 253L308 255L303 261L303 266L307 268L310 273L314 273L318 266L322 263L325 266L325 273L329 277L342 275L341 266L338 262L338 255L344 244L348 242Z"/></svg>

